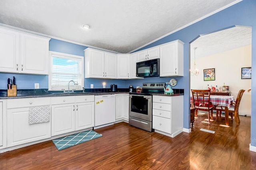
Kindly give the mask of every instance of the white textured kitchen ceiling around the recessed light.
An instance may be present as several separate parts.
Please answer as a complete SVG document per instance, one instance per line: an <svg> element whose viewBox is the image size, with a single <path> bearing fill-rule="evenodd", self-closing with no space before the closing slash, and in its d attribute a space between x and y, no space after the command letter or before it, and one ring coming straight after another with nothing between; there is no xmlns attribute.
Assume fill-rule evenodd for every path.
<svg viewBox="0 0 256 170"><path fill-rule="evenodd" d="M129 53L240 1L0 0L0 23Z"/></svg>

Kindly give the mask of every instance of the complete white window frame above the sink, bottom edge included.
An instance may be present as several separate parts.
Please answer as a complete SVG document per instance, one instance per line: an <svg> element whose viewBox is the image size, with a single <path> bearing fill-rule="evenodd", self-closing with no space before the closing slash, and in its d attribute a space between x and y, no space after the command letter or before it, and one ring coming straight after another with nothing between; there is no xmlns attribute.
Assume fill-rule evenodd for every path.
<svg viewBox="0 0 256 170"><path fill-rule="evenodd" d="M84 88L84 56L79 55L71 55L66 53L59 53L55 51L49 51L49 75L48 75L48 91L60 91L61 89L54 89L52 90L52 57L68 57L72 59L80 59L81 60L81 89L76 90L83 90ZM68 89L65 89L68 90ZM74 90L74 91L76 91Z"/></svg>

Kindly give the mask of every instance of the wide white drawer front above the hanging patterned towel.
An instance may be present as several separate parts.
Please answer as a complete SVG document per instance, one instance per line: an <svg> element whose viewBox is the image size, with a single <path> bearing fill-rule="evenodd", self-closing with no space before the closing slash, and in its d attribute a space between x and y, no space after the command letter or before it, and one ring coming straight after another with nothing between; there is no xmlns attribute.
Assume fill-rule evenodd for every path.
<svg viewBox="0 0 256 170"><path fill-rule="evenodd" d="M8 99L7 109L20 107L33 107L50 105L50 98L26 98L26 99Z"/></svg>

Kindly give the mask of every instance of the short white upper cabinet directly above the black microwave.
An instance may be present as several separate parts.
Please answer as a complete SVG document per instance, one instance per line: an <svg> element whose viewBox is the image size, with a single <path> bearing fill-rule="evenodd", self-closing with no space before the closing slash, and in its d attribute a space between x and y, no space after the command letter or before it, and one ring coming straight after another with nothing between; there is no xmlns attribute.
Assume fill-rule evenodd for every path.
<svg viewBox="0 0 256 170"><path fill-rule="evenodd" d="M138 55L138 62L158 59L159 58L159 47L152 47L150 49L146 49L143 51L139 51Z"/></svg>

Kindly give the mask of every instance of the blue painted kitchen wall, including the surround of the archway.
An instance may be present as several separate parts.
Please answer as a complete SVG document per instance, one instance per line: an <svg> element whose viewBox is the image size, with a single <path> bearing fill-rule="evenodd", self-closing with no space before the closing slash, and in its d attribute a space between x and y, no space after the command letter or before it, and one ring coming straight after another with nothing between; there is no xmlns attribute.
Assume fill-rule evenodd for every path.
<svg viewBox="0 0 256 170"><path fill-rule="evenodd" d="M256 64L256 0L243 0L238 4L235 4L225 10L222 10L204 20L198 21L193 25L190 25L176 33L168 35L142 49L154 47L163 43L180 39L184 42L184 76L176 77L178 81L175 88L184 88L184 128L190 128L189 121L189 107L190 107L190 46L189 43L198 35L210 33L219 29L230 27L232 25L245 25L252 27L252 67ZM72 55L84 56L84 49L87 47L82 45L76 45L56 39L50 40L50 51L56 51L60 53L68 53ZM142 50L140 49L140 50ZM255 69L252 69L252 96L256 96L256 75ZM23 75L23 74L5 74L0 73L0 89L6 89L7 78L16 77L16 83L18 89L31 89L34 88L34 83L40 83L40 88L48 88L48 76L38 75ZM144 78L142 80L104 80L104 79L92 79L88 78L84 80L85 88L90 88L90 84L94 84L94 88L102 88L102 83L106 82L106 88L110 87L110 84L117 84L118 88L128 88L130 84L134 87L141 86L142 82L168 82L170 78ZM251 115L251 145L256 146L256 99L252 98L252 115ZM242 122L241 122L242 124Z"/></svg>

